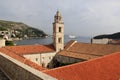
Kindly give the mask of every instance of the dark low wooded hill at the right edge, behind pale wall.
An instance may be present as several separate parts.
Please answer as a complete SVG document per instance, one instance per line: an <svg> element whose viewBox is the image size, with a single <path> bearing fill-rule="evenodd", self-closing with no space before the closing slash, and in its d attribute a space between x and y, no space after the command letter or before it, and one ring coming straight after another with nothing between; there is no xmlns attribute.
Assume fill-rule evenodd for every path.
<svg viewBox="0 0 120 80"><path fill-rule="evenodd" d="M108 38L108 39L120 39L120 32L114 33L114 34L109 34L109 35L98 35L93 37L94 39L103 39L103 38Z"/></svg>

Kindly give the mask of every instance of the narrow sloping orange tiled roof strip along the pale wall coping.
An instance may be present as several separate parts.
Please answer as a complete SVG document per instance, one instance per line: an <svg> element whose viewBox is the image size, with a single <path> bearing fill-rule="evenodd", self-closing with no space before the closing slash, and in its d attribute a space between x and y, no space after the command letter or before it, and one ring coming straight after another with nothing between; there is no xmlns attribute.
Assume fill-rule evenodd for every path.
<svg viewBox="0 0 120 80"><path fill-rule="evenodd" d="M6 55L8 55L8 56L10 56L10 57L24 63L24 64L32 67L32 68L35 68L35 69L37 69L39 71L45 70L45 68L41 67L40 65L38 65L38 64L36 64L36 63L22 57L22 56L19 56L19 55L15 54L15 53L5 49L5 48L0 48L0 52L2 52L3 54L6 54Z"/></svg>

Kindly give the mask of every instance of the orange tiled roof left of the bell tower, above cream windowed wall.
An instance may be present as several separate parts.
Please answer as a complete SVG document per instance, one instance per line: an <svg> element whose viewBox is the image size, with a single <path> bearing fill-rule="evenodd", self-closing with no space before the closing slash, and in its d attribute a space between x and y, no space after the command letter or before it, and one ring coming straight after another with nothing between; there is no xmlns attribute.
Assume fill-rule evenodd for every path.
<svg viewBox="0 0 120 80"><path fill-rule="evenodd" d="M33 54L33 53L45 53L54 52L52 45L22 45L22 46L5 46L4 48L12 51L16 54Z"/></svg>

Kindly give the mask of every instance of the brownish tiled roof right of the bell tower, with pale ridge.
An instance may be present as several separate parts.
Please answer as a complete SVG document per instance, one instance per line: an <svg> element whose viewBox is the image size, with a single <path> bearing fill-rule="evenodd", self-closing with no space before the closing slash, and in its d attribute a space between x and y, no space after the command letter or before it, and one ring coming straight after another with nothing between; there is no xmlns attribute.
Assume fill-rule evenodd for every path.
<svg viewBox="0 0 120 80"><path fill-rule="evenodd" d="M57 55L89 60L115 52L120 52L120 45L90 44L70 41L66 44L64 51L59 52Z"/></svg>

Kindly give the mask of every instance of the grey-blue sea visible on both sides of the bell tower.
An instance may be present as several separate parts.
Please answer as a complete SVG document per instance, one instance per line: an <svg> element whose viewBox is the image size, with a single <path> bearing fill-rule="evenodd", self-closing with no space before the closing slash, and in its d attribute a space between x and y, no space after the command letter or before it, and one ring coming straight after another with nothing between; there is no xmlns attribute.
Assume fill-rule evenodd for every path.
<svg viewBox="0 0 120 80"><path fill-rule="evenodd" d="M69 38L68 36L64 36L65 43L69 42L70 40L76 40L82 43L90 43L91 37L76 37L76 38ZM33 45L33 44L51 44L53 43L52 37L47 38L37 38L37 39L25 39L25 40L18 40L14 41L16 45Z"/></svg>

